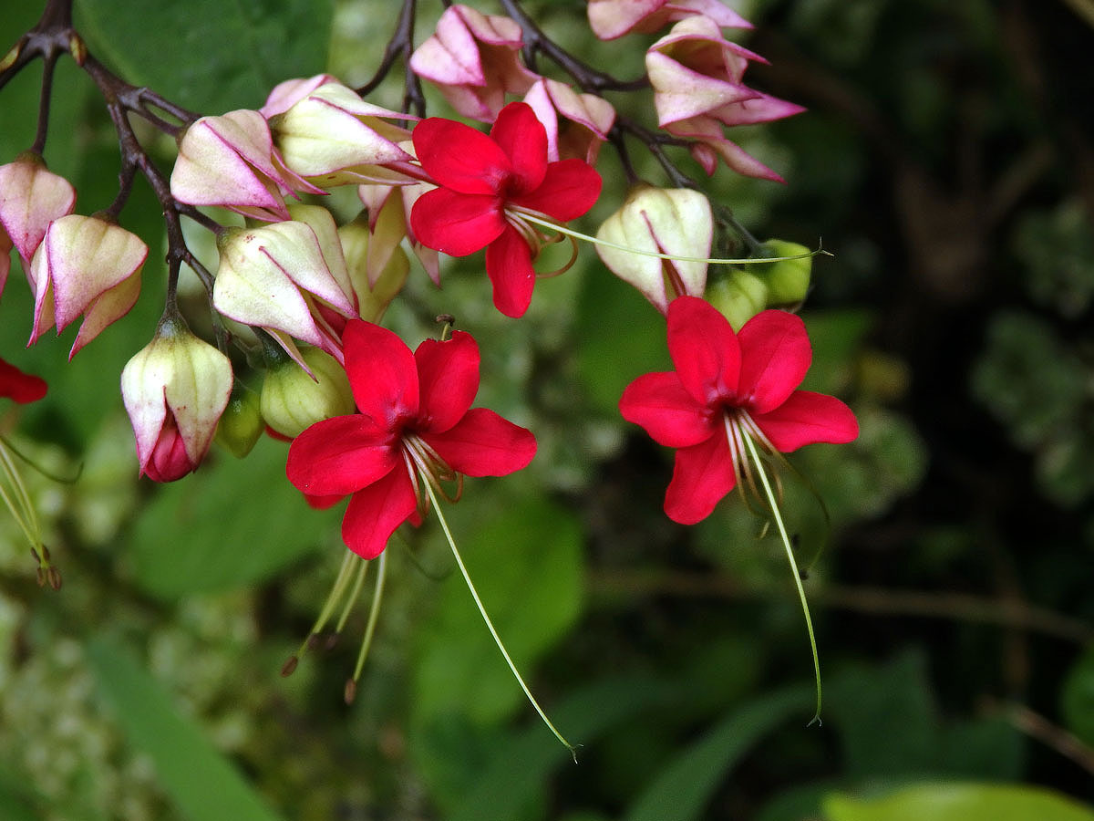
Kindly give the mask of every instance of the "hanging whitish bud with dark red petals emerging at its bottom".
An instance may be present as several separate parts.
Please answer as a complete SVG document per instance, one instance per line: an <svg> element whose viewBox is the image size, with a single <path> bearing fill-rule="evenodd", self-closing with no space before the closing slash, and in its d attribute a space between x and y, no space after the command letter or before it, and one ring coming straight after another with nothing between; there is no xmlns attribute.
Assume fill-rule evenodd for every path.
<svg viewBox="0 0 1094 821"><path fill-rule="evenodd" d="M121 371L121 398L137 439L140 474L174 482L194 471L212 442L232 392L232 365L181 320L160 323L155 338Z"/></svg>

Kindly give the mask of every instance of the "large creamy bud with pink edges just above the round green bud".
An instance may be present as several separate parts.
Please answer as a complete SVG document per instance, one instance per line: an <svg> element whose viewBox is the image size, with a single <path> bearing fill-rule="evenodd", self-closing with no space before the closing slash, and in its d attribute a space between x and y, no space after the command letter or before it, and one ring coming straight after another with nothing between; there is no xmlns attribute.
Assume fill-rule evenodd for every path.
<svg viewBox="0 0 1094 821"><path fill-rule="evenodd" d="M344 316L357 312L307 224L291 220L230 229L217 244L220 265L212 301L218 311L266 328L298 362L300 352L290 337L341 357L337 335L318 313L318 301Z"/></svg>

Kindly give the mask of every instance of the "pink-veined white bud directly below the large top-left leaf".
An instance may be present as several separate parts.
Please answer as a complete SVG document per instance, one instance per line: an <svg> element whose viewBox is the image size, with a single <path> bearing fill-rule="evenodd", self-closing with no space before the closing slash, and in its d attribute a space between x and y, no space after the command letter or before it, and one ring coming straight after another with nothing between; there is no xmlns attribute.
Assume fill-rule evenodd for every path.
<svg viewBox="0 0 1094 821"><path fill-rule="evenodd" d="M284 220L289 219L284 197L292 192L322 193L284 166L258 112L201 117L179 140L171 173L171 193L179 203L222 206L265 221Z"/></svg>

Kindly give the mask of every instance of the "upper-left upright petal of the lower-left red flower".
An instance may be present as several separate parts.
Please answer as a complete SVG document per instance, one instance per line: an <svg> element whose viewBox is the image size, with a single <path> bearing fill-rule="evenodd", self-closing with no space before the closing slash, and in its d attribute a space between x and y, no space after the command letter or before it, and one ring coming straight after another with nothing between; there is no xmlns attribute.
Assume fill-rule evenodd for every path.
<svg viewBox="0 0 1094 821"><path fill-rule="evenodd" d="M374 430L397 435L418 413L418 367L410 348L387 328L351 320L342 334L346 375L358 409Z"/></svg>

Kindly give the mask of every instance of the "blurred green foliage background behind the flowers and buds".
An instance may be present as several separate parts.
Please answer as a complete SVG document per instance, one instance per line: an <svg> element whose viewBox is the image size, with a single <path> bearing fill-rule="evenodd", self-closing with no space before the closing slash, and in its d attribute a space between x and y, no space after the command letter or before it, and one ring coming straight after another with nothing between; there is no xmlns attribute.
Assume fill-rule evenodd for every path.
<svg viewBox="0 0 1094 821"><path fill-rule="evenodd" d="M379 0L75 5L96 56L210 114L328 66L363 82L394 25ZM597 67L642 71L655 35L602 44L584 3L525 5ZM664 321L587 248L519 323L490 307L480 257L446 266L441 290L416 270L389 314L411 345L455 314L482 348L478 404L537 435L527 471L468 481L446 513L579 765L523 701L433 521L389 547L354 705L340 696L368 594L331 649L279 679L340 560L341 508L307 508L272 441L243 461L217 451L171 486L138 481L118 377L164 287L158 205L138 184L123 222L152 250L125 320L69 365L73 331L23 350L33 300L18 270L0 300L0 351L50 383L14 443L55 473L83 464L73 485L27 471L59 594L34 585L0 518L0 817L1091 817L1094 123L1075 66L1094 32L1054 2L741 10L757 23L742 42L772 63L750 82L810 112L732 135L785 187L724 170L702 184L756 235L835 252L814 261L804 386L848 400L862 429L792 454L807 481L781 473L811 565L824 725L805 727L808 648L763 519L736 496L690 529L661 510L670 454L617 403L670 367ZM0 38L36 13L0 0ZM419 39L439 13L423 8ZM33 139L38 77L0 91L0 162ZM102 208L117 189L112 129L66 60L56 86L46 159L77 183L79 210ZM374 100L401 92L392 79ZM653 125L648 97L612 102ZM171 148L156 146L164 169ZM622 195L610 147L600 167L584 229ZM1037 717L1032 739L1012 704Z"/></svg>

